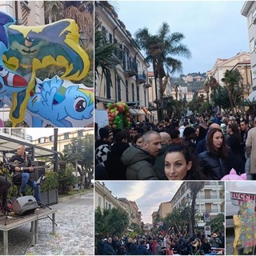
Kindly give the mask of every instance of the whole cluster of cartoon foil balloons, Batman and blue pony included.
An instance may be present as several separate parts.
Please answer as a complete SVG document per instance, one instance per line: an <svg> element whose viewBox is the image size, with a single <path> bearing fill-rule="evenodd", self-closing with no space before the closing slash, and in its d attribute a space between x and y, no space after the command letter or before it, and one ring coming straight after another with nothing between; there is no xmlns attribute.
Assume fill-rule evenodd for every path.
<svg viewBox="0 0 256 256"><path fill-rule="evenodd" d="M5 49L0 60L0 83L1 90L10 93L0 99L0 106L10 106L13 126L26 121L25 117L29 116L31 126L43 125L43 120L53 126L65 127L77 126L76 120L81 121L81 118L80 126L86 126L89 119L93 122L92 90L70 82L85 78L90 68L88 55L79 46L78 25L74 20L63 19L46 26L11 25L7 28L10 23L14 23L14 19L0 13L0 42L6 46L0 47ZM60 78L50 79L46 67L54 66L58 66ZM40 72L42 78L43 71L46 71L43 77L46 81L37 83L37 73ZM71 104L73 108L70 108Z"/></svg>

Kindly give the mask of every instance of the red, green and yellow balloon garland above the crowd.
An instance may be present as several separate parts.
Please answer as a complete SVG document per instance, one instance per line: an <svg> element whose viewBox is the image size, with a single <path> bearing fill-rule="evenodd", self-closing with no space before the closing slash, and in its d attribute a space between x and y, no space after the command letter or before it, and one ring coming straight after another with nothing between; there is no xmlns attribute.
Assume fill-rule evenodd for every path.
<svg viewBox="0 0 256 256"><path fill-rule="evenodd" d="M109 102L106 104L106 107L110 126L119 129L130 127L130 111L129 106L126 104L126 102Z"/></svg>

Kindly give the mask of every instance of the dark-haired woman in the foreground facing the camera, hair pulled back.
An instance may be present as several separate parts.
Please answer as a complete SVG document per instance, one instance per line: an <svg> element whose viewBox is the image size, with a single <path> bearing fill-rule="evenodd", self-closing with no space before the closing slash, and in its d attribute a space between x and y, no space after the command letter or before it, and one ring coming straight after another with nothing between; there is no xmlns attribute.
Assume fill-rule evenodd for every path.
<svg viewBox="0 0 256 256"><path fill-rule="evenodd" d="M198 159L186 143L170 145L166 150L165 173L170 180L208 179L198 165Z"/></svg>

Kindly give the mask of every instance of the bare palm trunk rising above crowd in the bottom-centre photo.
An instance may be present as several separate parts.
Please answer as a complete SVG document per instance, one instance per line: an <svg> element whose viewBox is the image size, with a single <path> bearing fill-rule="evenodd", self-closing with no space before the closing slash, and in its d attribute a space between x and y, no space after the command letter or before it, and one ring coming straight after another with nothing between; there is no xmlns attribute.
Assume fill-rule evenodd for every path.
<svg viewBox="0 0 256 256"><path fill-rule="evenodd" d="M202 188L205 186L205 182L188 182L188 185L190 187L191 191L191 214L190 214L190 219L191 219L191 226L190 226L190 238L194 235L194 226L195 226L195 202L196 198L198 195L198 192L202 190Z"/></svg>

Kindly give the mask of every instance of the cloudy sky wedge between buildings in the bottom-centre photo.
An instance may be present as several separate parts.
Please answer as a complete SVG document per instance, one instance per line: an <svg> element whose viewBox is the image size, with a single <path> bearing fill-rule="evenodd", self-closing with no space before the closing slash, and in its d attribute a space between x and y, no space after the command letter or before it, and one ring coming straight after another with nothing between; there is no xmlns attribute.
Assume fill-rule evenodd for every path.
<svg viewBox="0 0 256 256"><path fill-rule="evenodd" d="M153 212L158 210L161 202L169 202L181 184L171 181L105 181L106 188L112 191L114 197L136 202L144 223L152 223Z"/></svg>

